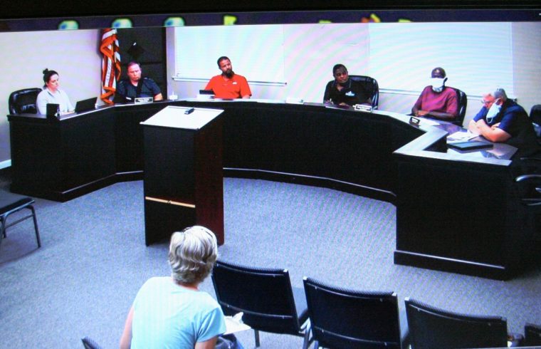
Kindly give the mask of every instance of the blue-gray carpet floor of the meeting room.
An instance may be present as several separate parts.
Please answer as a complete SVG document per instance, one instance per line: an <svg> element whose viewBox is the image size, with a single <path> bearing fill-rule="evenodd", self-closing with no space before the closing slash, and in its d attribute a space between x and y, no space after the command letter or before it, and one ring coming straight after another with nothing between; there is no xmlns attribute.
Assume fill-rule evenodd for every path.
<svg viewBox="0 0 541 349"><path fill-rule="evenodd" d="M1 182L0 187L7 187ZM125 316L147 278L169 275L167 242L145 246L142 182L123 182L58 203L36 199L31 221L0 246L0 348L83 348L89 335L117 348ZM331 189L224 179L226 244L220 258L289 269L347 288L395 291L451 311L498 315L510 331L541 324L541 263L510 281L393 264L395 208ZM210 279L201 289L214 296ZM253 348L251 330L238 333ZM302 338L261 333L261 348L300 348Z"/></svg>

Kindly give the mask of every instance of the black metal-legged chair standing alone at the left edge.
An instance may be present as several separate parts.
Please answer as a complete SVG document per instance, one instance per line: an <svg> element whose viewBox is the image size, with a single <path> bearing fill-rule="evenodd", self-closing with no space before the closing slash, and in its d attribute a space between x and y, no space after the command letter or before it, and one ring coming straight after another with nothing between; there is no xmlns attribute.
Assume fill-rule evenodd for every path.
<svg viewBox="0 0 541 349"><path fill-rule="evenodd" d="M34 229L36 231L36 240L38 240L38 247L41 247L38 221L36 219L36 210L32 206L33 203L34 199L32 199L31 197L24 197L22 195L0 190L0 245L2 243L2 239L7 237L6 229L8 229L10 226L14 226L17 223L24 221L25 219L33 218ZM15 222L6 224L9 215L21 211L21 209L29 209L31 211L31 214L21 217Z"/></svg>

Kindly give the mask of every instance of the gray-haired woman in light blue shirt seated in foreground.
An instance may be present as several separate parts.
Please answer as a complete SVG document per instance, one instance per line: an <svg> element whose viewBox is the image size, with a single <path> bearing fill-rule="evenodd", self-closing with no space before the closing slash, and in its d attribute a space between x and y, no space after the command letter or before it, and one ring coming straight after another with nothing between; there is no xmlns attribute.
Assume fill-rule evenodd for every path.
<svg viewBox="0 0 541 349"><path fill-rule="evenodd" d="M149 278L127 315L120 348L214 348L224 313L198 290L218 258L216 236L203 226L177 231L169 244L171 276Z"/></svg>

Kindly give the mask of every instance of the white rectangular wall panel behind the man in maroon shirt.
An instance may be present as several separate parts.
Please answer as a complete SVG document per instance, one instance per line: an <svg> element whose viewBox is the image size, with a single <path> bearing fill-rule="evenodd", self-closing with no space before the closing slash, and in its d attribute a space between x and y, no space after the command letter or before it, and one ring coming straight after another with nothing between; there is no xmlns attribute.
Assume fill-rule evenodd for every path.
<svg viewBox="0 0 541 349"><path fill-rule="evenodd" d="M467 95L496 87L513 95L511 30L503 22L369 24L370 74L379 88L419 91L439 66Z"/></svg>

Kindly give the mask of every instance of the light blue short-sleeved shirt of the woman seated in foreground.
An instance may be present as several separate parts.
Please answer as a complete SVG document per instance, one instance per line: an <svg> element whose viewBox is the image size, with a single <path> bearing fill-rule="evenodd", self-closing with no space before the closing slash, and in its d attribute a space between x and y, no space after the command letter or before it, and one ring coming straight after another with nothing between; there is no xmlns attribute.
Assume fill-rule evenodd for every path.
<svg viewBox="0 0 541 349"><path fill-rule="evenodd" d="M194 348L226 331L224 313L209 293L149 278L133 302L132 349Z"/></svg>

